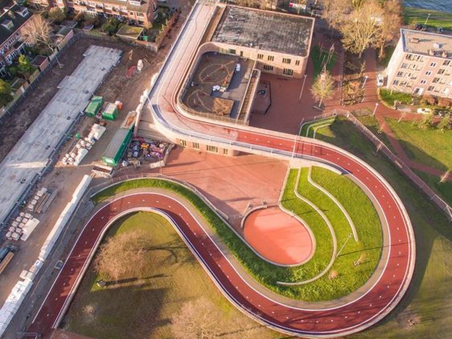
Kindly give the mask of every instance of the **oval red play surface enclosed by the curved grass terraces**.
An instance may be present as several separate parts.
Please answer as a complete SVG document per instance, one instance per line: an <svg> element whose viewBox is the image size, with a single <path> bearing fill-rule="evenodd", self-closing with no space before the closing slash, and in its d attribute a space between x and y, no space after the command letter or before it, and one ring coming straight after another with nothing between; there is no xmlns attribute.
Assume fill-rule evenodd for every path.
<svg viewBox="0 0 452 339"><path fill-rule="evenodd" d="M243 232L262 257L278 265L300 265L312 254L307 228L279 207L251 212L245 219Z"/></svg>

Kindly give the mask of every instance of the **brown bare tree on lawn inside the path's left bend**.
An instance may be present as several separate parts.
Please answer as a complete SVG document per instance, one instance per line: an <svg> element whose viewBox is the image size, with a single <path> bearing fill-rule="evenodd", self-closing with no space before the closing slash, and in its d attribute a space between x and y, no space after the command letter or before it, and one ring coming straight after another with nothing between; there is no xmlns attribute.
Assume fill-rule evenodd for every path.
<svg viewBox="0 0 452 339"><path fill-rule="evenodd" d="M100 246L96 269L114 280L139 275L146 263L149 236L143 231L121 233Z"/></svg>

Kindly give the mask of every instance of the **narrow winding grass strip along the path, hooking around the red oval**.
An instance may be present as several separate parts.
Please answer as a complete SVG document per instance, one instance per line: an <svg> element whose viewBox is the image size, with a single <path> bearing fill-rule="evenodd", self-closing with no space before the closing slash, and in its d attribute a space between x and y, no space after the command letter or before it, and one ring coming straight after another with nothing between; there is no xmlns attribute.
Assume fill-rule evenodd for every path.
<svg viewBox="0 0 452 339"><path fill-rule="evenodd" d="M328 265L332 253L332 238L327 225L319 214L315 213L312 208L300 201L294 194L296 176L296 170L289 173L282 204L286 209L299 215L311 227L317 243L315 253L309 262L290 268L272 265L260 259L196 194L179 184L158 179L133 180L107 188L93 197L93 200L100 202L116 193L140 187L158 187L173 191L187 199L200 212L206 222L229 247L239 263L264 286L284 296L306 301L331 300L344 296L351 292L350 286L341 287L338 285L337 288L331 289L331 286L322 285L318 282L312 283L315 284L315 288L311 284L301 286L277 284L278 281L292 282L316 276ZM318 241L318 239L322 239L322 241ZM355 278L348 277L347 279L353 281ZM355 285L352 284L352 286Z"/></svg>

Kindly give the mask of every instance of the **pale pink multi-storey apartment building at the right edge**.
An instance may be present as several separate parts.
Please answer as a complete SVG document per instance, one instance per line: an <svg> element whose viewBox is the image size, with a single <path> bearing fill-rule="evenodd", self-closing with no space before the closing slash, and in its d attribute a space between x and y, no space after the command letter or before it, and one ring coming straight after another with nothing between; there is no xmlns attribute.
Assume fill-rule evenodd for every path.
<svg viewBox="0 0 452 339"><path fill-rule="evenodd" d="M388 89L452 98L452 36L401 29L386 74Z"/></svg>

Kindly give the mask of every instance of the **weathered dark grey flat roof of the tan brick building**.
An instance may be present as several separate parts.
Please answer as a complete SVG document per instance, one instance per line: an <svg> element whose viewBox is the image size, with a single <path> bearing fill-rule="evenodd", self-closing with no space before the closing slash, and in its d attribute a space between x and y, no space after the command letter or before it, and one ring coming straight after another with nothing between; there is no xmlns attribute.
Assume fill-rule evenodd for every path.
<svg viewBox="0 0 452 339"><path fill-rule="evenodd" d="M227 6L212 41L306 56L314 19Z"/></svg>

